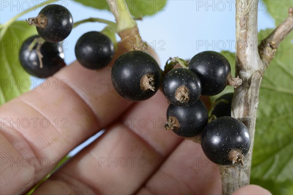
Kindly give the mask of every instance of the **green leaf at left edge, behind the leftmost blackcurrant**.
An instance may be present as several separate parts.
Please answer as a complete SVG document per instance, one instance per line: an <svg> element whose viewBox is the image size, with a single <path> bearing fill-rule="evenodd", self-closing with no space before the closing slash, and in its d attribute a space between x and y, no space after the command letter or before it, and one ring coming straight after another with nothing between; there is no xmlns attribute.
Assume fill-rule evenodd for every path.
<svg viewBox="0 0 293 195"><path fill-rule="evenodd" d="M37 34L36 27L25 21L16 21L8 27L1 39L0 53L0 104L29 91L29 75L21 67L19 50L21 43Z"/></svg>

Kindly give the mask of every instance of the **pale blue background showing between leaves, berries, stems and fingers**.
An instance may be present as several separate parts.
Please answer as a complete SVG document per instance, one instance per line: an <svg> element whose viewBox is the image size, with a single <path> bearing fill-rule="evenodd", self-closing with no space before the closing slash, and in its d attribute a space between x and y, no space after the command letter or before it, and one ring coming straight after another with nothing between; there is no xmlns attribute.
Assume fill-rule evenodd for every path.
<svg viewBox="0 0 293 195"><path fill-rule="evenodd" d="M27 9L38 0L0 0L0 23ZM71 12L74 21L89 17L114 21L106 11L83 6L73 0L60 0ZM6 6L8 3L8 6ZM5 6L4 6L5 5ZM235 51L235 1L233 0L169 0L165 11L138 21L143 40L146 40L159 56L161 68L169 57L190 59L205 50ZM19 20L35 17L40 9L29 12ZM66 38L64 53L67 64L75 60L74 47L77 39L88 31L101 31L105 24L86 23L75 28ZM258 29L273 28L274 20L262 1L258 8ZM99 135L102 132L99 133ZM87 143L99 135L91 137ZM79 147L72 154L76 153Z"/></svg>

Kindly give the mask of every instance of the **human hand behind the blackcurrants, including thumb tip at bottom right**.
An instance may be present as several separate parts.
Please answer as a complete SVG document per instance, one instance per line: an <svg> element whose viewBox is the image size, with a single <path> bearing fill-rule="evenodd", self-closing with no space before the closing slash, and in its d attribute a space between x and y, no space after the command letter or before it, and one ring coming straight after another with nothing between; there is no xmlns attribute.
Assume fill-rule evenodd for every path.
<svg viewBox="0 0 293 195"><path fill-rule="evenodd" d="M48 88L1 106L0 194L27 192L56 159L102 129L102 137L35 194L221 194L218 167L207 161L201 146L162 128L164 95L158 91L146 101L129 102L110 80L108 68L91 71L74 62L48 78ZM28 127L21 124L26 120ZM235 193L270 194L253 185Z"/></svg>

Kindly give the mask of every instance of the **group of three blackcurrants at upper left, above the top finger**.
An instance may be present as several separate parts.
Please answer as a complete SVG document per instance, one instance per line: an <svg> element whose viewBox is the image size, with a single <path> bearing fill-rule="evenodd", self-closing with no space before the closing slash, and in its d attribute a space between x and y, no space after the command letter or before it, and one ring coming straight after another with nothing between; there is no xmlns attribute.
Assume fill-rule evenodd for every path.
<svg viewBox="0 0 293 195"><path fill-rule="evenodd" d="M64 63L62 42L73 28L70 12L61 5L45 6L37 17L29 18L39 35L26 39L20 50L22 67L30 75L48 78L59 71ZM100 32L87 32L75 46L75 55L82 66L96 70L105 67L113 58L112 41Z"/></svg>

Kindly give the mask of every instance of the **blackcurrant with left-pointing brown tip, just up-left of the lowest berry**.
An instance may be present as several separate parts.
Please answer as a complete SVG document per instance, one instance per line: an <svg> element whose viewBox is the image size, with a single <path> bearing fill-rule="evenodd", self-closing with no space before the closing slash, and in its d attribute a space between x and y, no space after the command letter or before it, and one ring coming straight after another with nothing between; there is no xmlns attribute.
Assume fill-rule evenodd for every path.
<svg viewBox="0 0 293 195"><path fill-rule="evenodd" d="M166 130L172 130L181 137L199 135L208 123L208 109L199 99L189 107L170 104L167 109Z"/></svg>

